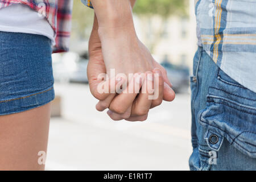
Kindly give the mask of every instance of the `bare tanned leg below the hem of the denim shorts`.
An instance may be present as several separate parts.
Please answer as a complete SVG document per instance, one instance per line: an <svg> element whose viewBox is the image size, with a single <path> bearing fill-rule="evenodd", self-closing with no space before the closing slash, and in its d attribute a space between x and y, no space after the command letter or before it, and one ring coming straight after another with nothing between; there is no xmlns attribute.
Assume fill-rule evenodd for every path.
<svg viewBox="0 0 256 182"><path fill-rule="evenodd" d="M39 151L47 151L51 104L0 116L0 170L44 170Z"/></svg>

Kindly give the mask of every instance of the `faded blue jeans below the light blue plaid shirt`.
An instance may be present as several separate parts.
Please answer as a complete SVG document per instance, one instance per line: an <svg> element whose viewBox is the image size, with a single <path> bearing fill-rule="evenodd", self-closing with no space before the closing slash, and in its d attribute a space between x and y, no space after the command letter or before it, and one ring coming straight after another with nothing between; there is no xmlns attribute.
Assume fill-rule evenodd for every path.
<svg viewBox="0 0 256 182"><path fill-rule="evenodd" d="M256 170L256 93L221 71L201 47L191 91L191 170Z"/></svg>

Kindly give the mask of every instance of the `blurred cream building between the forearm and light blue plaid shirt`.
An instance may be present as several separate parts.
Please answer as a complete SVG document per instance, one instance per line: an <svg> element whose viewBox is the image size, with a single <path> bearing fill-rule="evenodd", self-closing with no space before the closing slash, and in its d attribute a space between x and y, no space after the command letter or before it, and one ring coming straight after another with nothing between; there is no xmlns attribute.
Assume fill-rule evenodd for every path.
<svg viewBox="0 0 256 182"><path fill-rule="evenodd" d="M168 60L192 68L196 51L196 18L194 0L189 1L188 16L172 15L163 20L135 17L137 34L159 62Z"/></svg>

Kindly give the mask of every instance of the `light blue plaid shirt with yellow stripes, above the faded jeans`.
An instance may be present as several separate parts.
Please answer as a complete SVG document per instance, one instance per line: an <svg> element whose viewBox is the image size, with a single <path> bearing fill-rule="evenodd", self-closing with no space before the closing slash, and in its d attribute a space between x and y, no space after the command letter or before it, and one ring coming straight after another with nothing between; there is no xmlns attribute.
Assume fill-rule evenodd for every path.
<svg viewBox="0 0 256 182"><path fill-rule="evenodd" d="M222 71L254 92L255 8L255 0L196 0L199 46Z"/></svg>

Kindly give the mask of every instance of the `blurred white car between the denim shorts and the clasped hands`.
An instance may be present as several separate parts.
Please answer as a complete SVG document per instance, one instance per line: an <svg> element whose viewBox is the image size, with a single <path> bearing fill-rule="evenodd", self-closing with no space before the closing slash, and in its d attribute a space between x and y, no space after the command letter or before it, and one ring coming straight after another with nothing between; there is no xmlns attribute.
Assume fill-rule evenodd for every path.
<svg viewBox="0 0 256 182"><path fill-rule="evenodd" d="M88 59L75 52L53 55L53 76L56 82L88 83Z"/></svg>

